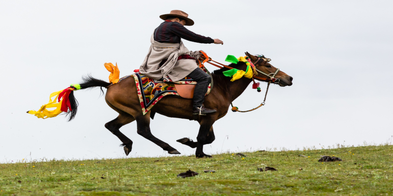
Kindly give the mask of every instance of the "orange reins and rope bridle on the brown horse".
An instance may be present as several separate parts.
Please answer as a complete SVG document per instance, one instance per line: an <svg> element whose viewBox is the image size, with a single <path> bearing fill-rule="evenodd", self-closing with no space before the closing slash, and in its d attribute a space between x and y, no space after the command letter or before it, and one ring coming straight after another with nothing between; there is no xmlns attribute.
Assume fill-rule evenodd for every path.
<svg viewBox="0 0 393 196"><path fill-rule="evenodd" d="M202 51L202 50L200 50L200 52L202 53L201 56L204 56L205 59L203 60L202 63L201 63L201 62L199 61L199 59L198 59L198 61L199 61L199 67L203 68L203 67L204 67L203 64L204 64L205 62L207 62L207 63L209 63L209 64L211 64L211 65L214 65L214 66L216 66L216 67L218 67L218 68L220 68L220 69L222 69L222 68L224 68L224 67L225 67L225 68L228 68L228 69L230 69L230 70L231 70L231 69L234 69L234 68L232 68L232 67L229 67L229 66L227 66L227 65L221 64L221 63L219 63L219 62L217 62L217 61L211 59L211 58L208 57L207 54L206 54L204 51ZM250 58L249 58L249 59L250 59ZM232 112L251 112L251 111L253 111L253 110L256 110L256 109L260 108L262 105L265 105L266 96L267 96L267 92L268 92L268 90L269 90L270 83L274 82L275 84L278 84L278 83L280 82L280 78L275 78L276 74L279 73L279 71L280 71L279 68L277 68L277 70L276 70L275 73L269 73L269 74L263 73L262 71L256 69L256 67L255 67L254 65L255 65L260 59L261 59L261 58L258 57L258 60L256 60L254 63L252 63L250 60L249 60L249 62L253 65L253 66L251 66L251 67L254 68L257 72L262 73L263 75L269 77L269 78L263 78L263 77L256 76L255 74L254 74L253 77L252 77L253 80L254 80L254 78L256 78L256 79L259 79L259 80L268 81L267 88L266 88L266 93L265 93L265 98L263 99L263 102L262 102L259 106L255 107L255 108L253 108L253 109L251 109L251 110L247 110L247 111L240 111L239 108L236 107L236 106L233 106L233 104L232 104L232 102L231 102L230 105L232 106L232 109L231 109ZM269 59L269 60L270 60L270 59ZM217 64L219 64L219 65L214 64L214 63L211 63L210 61L213 61L213 62L215 62L215 63L217 63ZM220 65L223 66L223 67L221 67ZM256 73L256 74L257 74L257 73ZM258 90L258 92L259 92L259 91L260 91L260 90Z"/></svg>

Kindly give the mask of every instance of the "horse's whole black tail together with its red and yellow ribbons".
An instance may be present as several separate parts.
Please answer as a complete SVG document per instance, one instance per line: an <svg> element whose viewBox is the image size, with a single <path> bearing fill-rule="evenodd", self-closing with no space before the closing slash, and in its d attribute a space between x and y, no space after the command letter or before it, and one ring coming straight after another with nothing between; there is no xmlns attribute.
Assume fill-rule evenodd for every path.
<svg viewBox="0 0 393 196"><path fill-rule="evenodd" d="M54 92L50 95L50 100L47 104L43 105L38 111L30 110L27 113L32 114L38 118L46 119L56 117L62 112L68 117L68 121L75 118L78 110L78 101L74 96L74 91L81 89L88 89L94 87L101 87L101 92L104 93L102 87L108 87L112 83L96 79L91 75L82 77L81 84L71 84L70 87ZM48 108L55 108L48 110Z"/></svg>

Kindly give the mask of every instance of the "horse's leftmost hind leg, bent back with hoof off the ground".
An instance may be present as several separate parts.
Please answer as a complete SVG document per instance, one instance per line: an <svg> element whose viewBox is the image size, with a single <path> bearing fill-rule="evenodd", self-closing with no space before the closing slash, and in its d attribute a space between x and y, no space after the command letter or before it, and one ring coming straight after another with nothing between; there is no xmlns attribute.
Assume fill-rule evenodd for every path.
<svg viewBox="0 0 393 196"><path fill-rule="evenodd" d="M132 141L120 132L120 127L125 124L131 123L135 121L134 117L127 113L119 113L119 116L115 118L113 121L110 121L105 124L105 127L110 130L113 135L117 136L120 141L123 143L121 146L124 146L124 152L128 155L132 149Z"/></svg>

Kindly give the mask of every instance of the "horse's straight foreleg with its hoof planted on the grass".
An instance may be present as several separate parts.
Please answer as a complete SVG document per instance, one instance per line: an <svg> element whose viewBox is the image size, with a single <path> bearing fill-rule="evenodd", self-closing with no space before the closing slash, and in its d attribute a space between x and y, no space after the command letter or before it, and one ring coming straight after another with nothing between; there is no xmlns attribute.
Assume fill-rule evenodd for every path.
<svg viewBox="0 0 393 196"><path fill-rule="evenodd" d="M216 118L214 118L214 116L208 116L208 117L202 119L200 122L199 132L198 132L198 136L197 136L197 150L195 152L195 155L197 156L197 158L212 157L210 155L203 153L203 145L209 144L208 142L213 142L213 140L215 139L214 134L213 134L213 127L212 127L212 125L215 121L216 121ZM211 132L210 132L210 130L211 130ZM208 135L210 135L210 136L208 136ZM213 138L211 138L211 137L213 137Z"/></svg>

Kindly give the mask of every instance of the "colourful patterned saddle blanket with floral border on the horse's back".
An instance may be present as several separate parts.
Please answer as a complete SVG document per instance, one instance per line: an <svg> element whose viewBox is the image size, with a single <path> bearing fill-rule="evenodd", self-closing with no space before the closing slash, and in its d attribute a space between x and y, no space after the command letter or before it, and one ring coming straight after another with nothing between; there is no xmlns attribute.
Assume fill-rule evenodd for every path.
<svg viewBox="0 0 393 196"><path fill-rule="evenodd" d="M180 96L176 91L175 84L197 84L196 81L187 77L176 82L165 82L163 80L148 78L146 75L141 73L127 75L120 78L118 82L130 76L133 76L135 79L143 115L145 115L163 97L167 95ZM206 95L210 93L210 90L211 85L209 85Z"/></svg>

